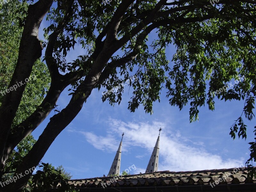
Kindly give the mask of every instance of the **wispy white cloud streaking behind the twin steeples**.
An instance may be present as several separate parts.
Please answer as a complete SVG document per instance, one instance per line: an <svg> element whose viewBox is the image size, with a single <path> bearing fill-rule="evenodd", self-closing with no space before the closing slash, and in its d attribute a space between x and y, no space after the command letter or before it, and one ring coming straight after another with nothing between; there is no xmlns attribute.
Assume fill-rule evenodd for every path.
<svg viewBox="0 0 256 192"><path fill-rule="evenodd" d="M98 136L93 132L81 132L86 140L95 148L109 151L116 151L115 133L124 132L123 149L131 151L133 147L146 148L148 154L152 153L160 133L160 150L159 150L159 167L158 170L170 171L195 171L205 169L221 169L238 167L243 163L243 159L223 159L217 154L212 154L204 148L204 143L193 138L184 138L179 131L173 130L170 125L154 121L149 122L128 122L125 123L116 119L109 119L109 128L107 136ZM74 132L74 131L73 131ZM125 147L124 147L125 146ZM211 149L212 150L212 149ZM219 149L222 150L222 149ZM214 153L218 153L214 151ZM132 151L130 152L132 153ZM135 156L142 158L142 155ZM138 168L137 173L145 172L144 169Z"/></svg>

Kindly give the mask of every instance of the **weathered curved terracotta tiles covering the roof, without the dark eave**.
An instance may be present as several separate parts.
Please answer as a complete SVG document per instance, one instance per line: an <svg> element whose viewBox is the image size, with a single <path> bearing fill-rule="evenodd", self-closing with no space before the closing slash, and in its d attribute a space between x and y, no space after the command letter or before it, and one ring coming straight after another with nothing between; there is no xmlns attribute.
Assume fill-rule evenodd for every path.
<svg viewBox="0 0 256 192"><path fill-rule="evenodd" d="M135 187L172 187L172 186L216 186L235 184L255 184L256 180L247 178L247 169L212 169L202 171L170 172L159 171L135 175L98 177L80 180L69 180L76 188L135 188ZM218 184L217 184L218 183ZM58 187L58 186L57 186ZM256 189L256 187L255 187Z"/></svg>

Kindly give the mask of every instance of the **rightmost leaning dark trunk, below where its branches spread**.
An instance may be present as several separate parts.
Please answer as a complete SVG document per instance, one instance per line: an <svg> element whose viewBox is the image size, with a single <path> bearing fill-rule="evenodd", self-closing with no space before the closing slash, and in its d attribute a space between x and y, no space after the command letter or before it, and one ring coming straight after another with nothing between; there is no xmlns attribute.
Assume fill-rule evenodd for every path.
<svg viewBox="0 0 256 192"><path fill-rule="evenodd" d="M16 169L16 173L24 173L26 170L33 166L36 166L40 162L55 138L82 109L84 101L89 97L92 89L96 87L98 82L98 78L94 79L91 77L97 76L98 73L100 72L96 72L96 74L90 74L86 76L83 83L77 87L67 107L64 108L60 113L51 117L50 122L44 129L44 132L40 135L33 148L24 157L22 165L20 165ZM83 94L81 94L81 92ZM5 188L3 188L3 190L10 192L21 191L24 185L27 183L27 180L31 174L23 174L25 175L24 177L17 180L17 182L13 185L6 186Z"/></svg>

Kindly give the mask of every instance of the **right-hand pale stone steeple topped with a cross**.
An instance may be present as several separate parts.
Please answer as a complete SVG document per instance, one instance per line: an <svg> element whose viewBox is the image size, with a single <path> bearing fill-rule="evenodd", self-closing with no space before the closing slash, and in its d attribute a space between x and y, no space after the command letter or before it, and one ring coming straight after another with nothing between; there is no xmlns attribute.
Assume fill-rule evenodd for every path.
<svg viewBox="0 0 256 192"><path fill-rule="evenodd" d="M159 129L159 135L158 138L156 140L156 145L153 149L152 155L150 157L150 160L148 162L148 166L146 169L145 173L151 173L151 172L156 172L157 168L158 168L158 158L159 158L159 141L160 141L160 131L161 131L161 127Z"/></svg>

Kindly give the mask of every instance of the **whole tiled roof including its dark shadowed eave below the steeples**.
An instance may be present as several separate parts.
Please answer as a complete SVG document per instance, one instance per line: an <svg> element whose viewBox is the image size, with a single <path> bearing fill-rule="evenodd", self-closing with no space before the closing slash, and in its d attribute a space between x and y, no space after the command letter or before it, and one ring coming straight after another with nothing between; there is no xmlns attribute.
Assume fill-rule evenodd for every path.
<svg viewBox="0 0 256 192"><path fill-rule="evenodd" d="M252 191L256 179L247 178L247 168L203 171L159 171L136 175L69 180L79 191ZM114 188L116 190L114 190Z"/></svg>

